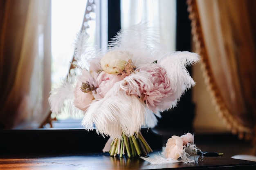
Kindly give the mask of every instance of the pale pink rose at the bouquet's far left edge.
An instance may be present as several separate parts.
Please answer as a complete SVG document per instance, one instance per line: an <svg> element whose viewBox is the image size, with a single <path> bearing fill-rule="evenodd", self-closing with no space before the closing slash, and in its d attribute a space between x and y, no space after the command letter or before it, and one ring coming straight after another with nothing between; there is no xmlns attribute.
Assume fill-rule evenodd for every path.
<svg viewBox="0 0 256 170"><path fill-rule="evenodd" d="M94 96L92 93L82 92L81 85L81 81L76 84L74 105L80 110L85 111L88 108L88 105L92 103Z"/></svg>

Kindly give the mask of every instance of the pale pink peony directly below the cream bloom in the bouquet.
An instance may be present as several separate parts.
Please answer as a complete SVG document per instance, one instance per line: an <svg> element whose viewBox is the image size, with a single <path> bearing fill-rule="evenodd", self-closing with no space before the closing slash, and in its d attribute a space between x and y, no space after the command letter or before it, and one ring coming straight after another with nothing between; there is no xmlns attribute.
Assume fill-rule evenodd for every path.
<svg viewBox="0 0 256 170"><path fill-rule="evenodd" d="M121 81L120 74L108 74L105 71L99 73L97 79L97 84L99 84L97 88L97 95L104 97L108 91L113 87L113 84Z"/></svg>

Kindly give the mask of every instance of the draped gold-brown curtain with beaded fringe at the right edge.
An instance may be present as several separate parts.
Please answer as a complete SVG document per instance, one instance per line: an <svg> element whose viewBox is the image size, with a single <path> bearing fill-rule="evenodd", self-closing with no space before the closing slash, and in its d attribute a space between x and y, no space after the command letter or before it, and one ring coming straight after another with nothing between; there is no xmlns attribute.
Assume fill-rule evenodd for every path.
<svg viewBox="0 0 256 170"><path fill-rule="evenodd" d="M227 126L256 144L256 1L188 0L196 52Z"/></svg>

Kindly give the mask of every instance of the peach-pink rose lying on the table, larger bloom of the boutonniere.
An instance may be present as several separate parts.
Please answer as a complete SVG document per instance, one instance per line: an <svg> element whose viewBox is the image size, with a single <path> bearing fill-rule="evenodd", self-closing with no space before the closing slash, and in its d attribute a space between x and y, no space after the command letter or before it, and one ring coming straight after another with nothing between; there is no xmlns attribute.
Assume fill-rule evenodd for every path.
<svg viewBox="0 0 256 170"><path fill-rule="evenodd" d="M183 140L181 137L172 136L167 140L164 155L166 158L178 159L183 152Z"/></svg>

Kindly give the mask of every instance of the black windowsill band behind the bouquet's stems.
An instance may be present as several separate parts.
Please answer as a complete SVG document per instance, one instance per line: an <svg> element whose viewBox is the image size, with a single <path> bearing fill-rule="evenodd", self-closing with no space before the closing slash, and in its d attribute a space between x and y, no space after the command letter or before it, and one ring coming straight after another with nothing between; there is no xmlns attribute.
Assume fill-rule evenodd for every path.
<svg viewBox="0 0 256 170"><path fill-rule="evenodd" d="M162 135L141 128L152 149L162 148ZM0 130L0 155L33 153L95 153L102 152L108 137L84 128L43 128Z"/></svg>

